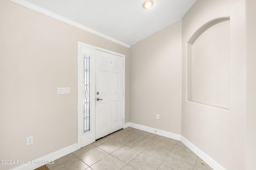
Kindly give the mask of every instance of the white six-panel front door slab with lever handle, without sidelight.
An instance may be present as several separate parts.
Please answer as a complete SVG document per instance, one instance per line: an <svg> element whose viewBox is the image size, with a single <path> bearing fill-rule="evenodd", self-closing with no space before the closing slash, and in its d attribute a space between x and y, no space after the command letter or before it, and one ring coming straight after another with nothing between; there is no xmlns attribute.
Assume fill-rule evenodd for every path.
<svg viewBox="0 0 256 170"><path fill-rule="evenodd" d="M123 127L123 57L96 50L96 139Z"/></svg>

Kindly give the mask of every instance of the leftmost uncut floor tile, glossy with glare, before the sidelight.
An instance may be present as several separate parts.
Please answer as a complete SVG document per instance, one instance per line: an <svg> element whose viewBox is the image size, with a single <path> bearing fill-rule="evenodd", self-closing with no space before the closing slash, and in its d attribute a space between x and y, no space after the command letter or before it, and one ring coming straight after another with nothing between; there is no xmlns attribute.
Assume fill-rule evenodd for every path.
<svg viewBox="0 0 256 170"><path fill-rule="evenodd" d="M108 156L107 152L95 147L87 152L84 152L83 154L78 155L77 157L84 161L87 165L91 166L106 156Z"/></svg>

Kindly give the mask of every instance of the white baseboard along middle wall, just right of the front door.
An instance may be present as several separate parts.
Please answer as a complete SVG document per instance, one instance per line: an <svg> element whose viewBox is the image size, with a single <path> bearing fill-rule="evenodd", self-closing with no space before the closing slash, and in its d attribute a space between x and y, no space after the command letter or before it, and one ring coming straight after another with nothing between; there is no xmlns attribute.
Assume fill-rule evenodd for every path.
<svg viewBox="0 0 256 170"><path fill-rule="evenodd" d="M163 131L163 130L160 130L160 129L156 129L156 128L152 128L152 127L148 127L148 126L144 126L144 125L139 125L139 124L131 123L131 122L126 123L126 124L129 125L129 127L133 127L133 128L136 128L136 129L146 131L146 132L154 133L156 135L160 135L160 136L164 136L164 137L168 137L168 138L180 141L180 136L181 135L178 135L176 133L171 133L171 132L168 132L168 131Z"/></svg>

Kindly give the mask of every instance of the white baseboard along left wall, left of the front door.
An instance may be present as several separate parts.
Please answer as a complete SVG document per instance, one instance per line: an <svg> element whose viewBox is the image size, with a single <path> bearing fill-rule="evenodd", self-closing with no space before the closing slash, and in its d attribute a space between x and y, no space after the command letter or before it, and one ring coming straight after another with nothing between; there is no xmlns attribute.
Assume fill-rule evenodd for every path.
<svg viewBox="0 0 256 170"><path fill-rule="evenodd" d="M20 166L17 166L15 168L12 168L11 170L34 170L36 168L39 168L40 166L43 166L46 161L52 161L56 160L62 156L65 156L67 154L70 154L78 149L78 144L73 144L68 147L62 148L60 150L57 150L55 152L52 152L50 154L46 154L45 156L42 156L40 158L37 158L33 161L30 161L30 164L23 164ZM32 162L40 162L39 164L35 164Z"/></svg>

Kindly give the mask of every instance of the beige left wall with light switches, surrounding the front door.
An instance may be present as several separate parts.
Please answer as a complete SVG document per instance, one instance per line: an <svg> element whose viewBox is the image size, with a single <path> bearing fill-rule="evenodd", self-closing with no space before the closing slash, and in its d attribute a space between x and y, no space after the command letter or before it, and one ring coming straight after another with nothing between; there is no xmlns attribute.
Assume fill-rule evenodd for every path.
<svg viewBox="0 0 256 170"><path fill-rule="evenodd" d="M0 0L0 160L33 160L77 143L78 41L126 55L128 122L128 48ZM57 95L58 87L71 93Z"/></svg>

